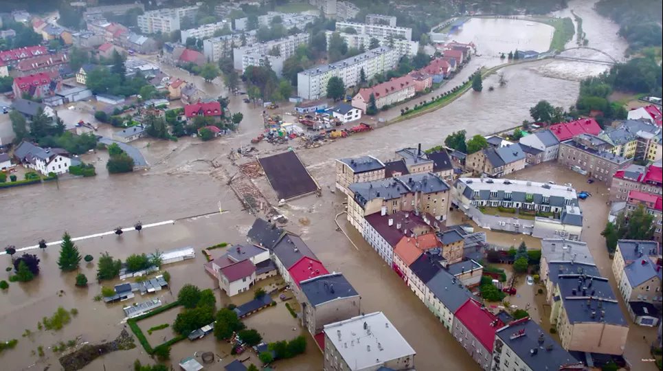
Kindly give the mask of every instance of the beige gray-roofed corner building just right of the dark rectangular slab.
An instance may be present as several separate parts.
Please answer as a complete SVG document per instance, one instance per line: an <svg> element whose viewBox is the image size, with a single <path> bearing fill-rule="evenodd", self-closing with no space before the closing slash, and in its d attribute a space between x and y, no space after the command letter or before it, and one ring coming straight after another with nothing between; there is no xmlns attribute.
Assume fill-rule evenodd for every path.
<svg viewBox="0 0 663 371"><path fill-rule="evenodd" d="M336 160L336 188L350 194L352 183L385 179L385 164L372 156Z"/></svg>

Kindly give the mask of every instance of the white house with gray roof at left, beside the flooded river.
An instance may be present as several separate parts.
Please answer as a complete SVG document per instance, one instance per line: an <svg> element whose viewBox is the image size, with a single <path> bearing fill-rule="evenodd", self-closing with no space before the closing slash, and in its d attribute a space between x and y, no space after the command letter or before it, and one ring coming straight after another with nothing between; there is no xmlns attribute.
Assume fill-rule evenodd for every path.
<svg viewBox="0 0 663 371"><path fill-rule="evenodd" d="M71 155L63 148L41 148L30 142L21 142L14 150L16 161L43 175L64 174L71 166Z"/></svg>

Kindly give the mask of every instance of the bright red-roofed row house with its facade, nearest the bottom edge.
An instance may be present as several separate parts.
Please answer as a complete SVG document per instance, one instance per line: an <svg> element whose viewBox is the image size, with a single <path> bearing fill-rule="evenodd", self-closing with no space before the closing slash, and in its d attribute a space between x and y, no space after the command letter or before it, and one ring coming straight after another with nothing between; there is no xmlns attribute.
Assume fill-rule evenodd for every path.
<svg viewBox="0 0 663 371"><path fill-rule="evenodd" d="M491 370L495 333L504 322L474 299L464 302L454 315L451 335L482 370Z"/></svg>

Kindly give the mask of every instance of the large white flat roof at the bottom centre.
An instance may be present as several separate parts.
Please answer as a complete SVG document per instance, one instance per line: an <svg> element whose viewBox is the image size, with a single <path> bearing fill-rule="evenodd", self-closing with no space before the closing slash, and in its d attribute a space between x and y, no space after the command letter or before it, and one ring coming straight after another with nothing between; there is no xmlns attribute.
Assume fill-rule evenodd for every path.
<svg viewBox="0 0 663 371"><path fill-rule="evenodd" d="M324 333L350 370L366 370L416 354L382 312L325 325Z"/></svg>

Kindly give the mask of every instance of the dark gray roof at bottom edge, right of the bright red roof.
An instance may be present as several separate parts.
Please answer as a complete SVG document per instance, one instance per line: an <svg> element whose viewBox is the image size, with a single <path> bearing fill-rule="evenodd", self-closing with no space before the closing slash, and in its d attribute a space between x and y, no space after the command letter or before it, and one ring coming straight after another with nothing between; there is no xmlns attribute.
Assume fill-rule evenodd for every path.
<svg viewBox="0 0 663 371"><path fill-rule="evenodd" d="M578 362L546 330L529 318L511 322L497 330L495 336L504 341L531 370L560 370L565 364Z"/></svg>

